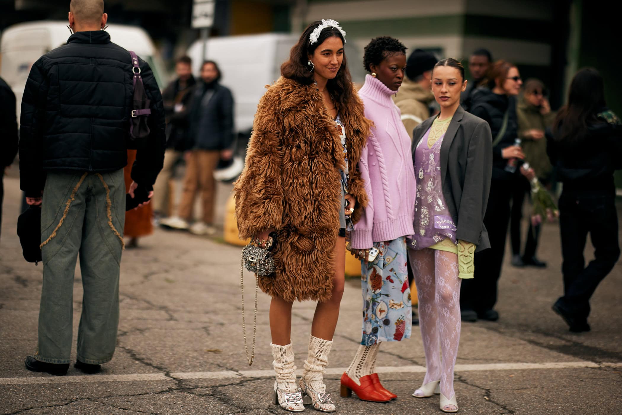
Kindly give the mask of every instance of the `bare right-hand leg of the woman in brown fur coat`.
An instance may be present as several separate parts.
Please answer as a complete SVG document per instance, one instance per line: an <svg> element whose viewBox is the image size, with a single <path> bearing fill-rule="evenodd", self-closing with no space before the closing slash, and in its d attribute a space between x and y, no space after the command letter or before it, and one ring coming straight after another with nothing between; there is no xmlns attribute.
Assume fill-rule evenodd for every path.
<svg viewBox="0 0 622 415"><path fill-rule="evenodd" d="M343 287L345 284L345 266L346 241L345 238L337 237L333 293L330 300L318 302L317 307L315 307L315 315L313 315L313 324L311 325L311 335L313 335L313 337L333 340L335 327L337 327L337 319L339 318L339 305L341 304L341 297L343 296Z"/></svg>

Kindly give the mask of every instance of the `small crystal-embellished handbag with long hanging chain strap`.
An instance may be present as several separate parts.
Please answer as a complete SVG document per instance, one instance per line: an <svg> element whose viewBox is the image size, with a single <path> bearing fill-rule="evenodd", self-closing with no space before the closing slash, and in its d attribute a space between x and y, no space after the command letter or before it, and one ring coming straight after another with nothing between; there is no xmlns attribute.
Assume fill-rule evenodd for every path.
<svg viewBox="0 0 622 415"><path fill-rule="evenodd" d="M242 330L244 333L244 349L246 350L246 360L248 365L253 365L255 358L255 336L257 333L257 296L259 292L259 284L257 284L259 277L271 276L274 274L274 258L272 258L271 251L276 244L276 232L272 232L266 241L266 247L261 248L262 241L251 241L248 245L242 249L242 259L240 266L240 279L241 279L241 291L242 291ZM248 344L246 342L246 320L244 319L244 268L255 274L255 314L253 322L253 349L251 354L248 353Z"/></svg>

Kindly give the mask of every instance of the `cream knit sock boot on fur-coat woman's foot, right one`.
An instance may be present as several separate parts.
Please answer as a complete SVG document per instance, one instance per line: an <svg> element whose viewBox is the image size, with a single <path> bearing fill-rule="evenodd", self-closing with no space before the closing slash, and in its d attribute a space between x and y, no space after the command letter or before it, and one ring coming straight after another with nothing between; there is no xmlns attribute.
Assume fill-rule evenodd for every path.
<svg viewBox="0 0 622 415"><path fill-rule="evenodd" d="M300 378L300 391L305 404L313 404L313 409L322 412L335 412L335 404L326 393L324 371L328 365L328 353L333 346L332 340L323 340L311 336L309 339L309 357L305 360L305 371Z"/></svg>

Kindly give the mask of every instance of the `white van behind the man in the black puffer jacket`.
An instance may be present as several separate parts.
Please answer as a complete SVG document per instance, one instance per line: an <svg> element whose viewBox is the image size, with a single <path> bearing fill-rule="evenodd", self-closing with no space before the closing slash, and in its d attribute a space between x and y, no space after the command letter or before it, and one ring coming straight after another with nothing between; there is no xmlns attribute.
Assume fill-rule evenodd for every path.
<svg viewBox="0 0 622 415"><path fill-rule="evenodd" d="M151 66L160 88L167 80L164 66L157 56L151 37L141 27L111 24L106 32L112 42L134 50ZM66 21L37 21L16 24L2 32L0 39L0 77L11 86L17 101L17 120L21 109L24 86L32 64L52 49L64 45L70 36ZM129 54L128 54L129 62Z"/></svg>

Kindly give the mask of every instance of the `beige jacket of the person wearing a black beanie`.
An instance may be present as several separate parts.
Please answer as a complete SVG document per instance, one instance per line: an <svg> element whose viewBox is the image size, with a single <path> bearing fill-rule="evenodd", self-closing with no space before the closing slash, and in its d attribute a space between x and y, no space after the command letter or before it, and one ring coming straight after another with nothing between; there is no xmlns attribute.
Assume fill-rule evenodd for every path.
<svg viewBox="0 0 622 415"><path fill-rule="evenodd" d="M430 103L434 101L432 91L404 77L402 86L393 98L402 113L402 123L412 139L412 131L417 125L430 118Z"/></svg>

